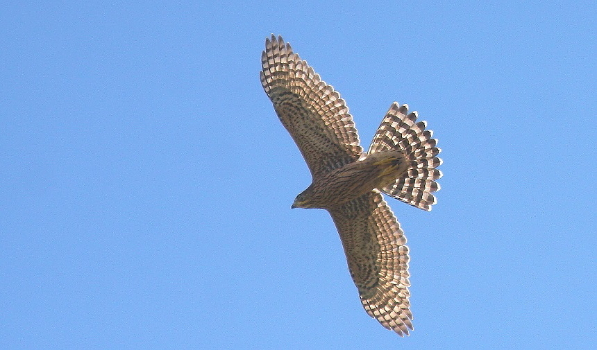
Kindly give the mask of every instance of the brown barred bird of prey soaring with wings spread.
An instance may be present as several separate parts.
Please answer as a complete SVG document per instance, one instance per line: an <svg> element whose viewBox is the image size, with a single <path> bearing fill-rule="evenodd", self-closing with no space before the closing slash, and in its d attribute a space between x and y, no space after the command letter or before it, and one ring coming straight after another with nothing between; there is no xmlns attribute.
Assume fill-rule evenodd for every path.
<svg viewBox="0 0 597 350"><path fill-rule="evenodd" d="M394 102L364 153L344 100L281 36L266 39L261 62L263 89L312 175L292 208L330 213L364 309L408 335L408 247L381 193L430 211L442 176L437 140L417 112Z"/></svg>

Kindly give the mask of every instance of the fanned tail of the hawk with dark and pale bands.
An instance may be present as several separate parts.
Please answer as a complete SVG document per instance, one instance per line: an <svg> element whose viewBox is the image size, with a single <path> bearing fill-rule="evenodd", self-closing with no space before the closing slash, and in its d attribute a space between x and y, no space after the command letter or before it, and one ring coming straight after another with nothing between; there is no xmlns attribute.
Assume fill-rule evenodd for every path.
<svg viewBox="0 0 597 350"><path fill-rule="evenodd" d="M383 193L419 209L431 210L437 203L433 192L439 191L435 180L442 177L436 169L442 159L436 157L440 150L435 147L432 131L425 130L427 123L417 123L417 112L408 113L408 105L392 103L379 126L368 155L384 150L401 150L408 164L407 171L395 182L380 189Z"/></svg>

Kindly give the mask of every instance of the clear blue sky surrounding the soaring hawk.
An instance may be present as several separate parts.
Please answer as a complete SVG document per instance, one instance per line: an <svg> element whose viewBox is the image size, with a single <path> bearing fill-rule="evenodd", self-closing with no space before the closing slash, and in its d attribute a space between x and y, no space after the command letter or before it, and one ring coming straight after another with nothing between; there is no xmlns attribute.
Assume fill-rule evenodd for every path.
<svg viewBox="0 0 597 350"><path fill-rule="evenodd" d="M5 1L1 349L594 349L594 1ZM364 312L258 78L281 34L365 147L428 121L430 213L388 202L415 330Z"/></svg>

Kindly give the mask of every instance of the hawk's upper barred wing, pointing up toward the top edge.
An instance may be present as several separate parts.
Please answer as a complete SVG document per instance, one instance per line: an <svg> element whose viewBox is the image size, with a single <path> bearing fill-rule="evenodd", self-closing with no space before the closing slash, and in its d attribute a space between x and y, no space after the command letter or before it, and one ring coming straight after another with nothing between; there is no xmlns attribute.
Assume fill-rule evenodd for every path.
<svg viewBox="0 0 597 350"><path fill-rule="evenodd" d="M261 62L263 89L299 146L312 177L358 159L362 148L353 117L333 87L280 36L266 40Z"/></svg>

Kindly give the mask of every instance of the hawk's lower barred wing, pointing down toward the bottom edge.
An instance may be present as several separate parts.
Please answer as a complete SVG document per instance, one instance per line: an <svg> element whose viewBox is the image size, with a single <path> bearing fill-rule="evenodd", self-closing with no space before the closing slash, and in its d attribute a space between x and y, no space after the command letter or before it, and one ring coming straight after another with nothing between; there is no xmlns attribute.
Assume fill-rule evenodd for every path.
<svg viewBox="0 0 597 350"><path fill-rule="evenodd" d="M396 216L378 191L329 211L365 310L385 328L408 335L408 247Z"/></svg>

